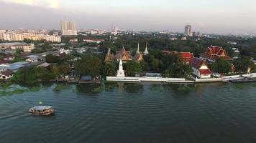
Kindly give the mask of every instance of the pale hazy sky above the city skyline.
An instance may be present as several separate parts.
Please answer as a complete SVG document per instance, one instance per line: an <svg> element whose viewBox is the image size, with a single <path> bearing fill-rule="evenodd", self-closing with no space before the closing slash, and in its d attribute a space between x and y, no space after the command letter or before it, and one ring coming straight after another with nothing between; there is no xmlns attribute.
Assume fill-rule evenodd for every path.
<svg viewBox="0 0 256 143"><path fill-rule="evenodd" d="M119 29L256 34L255 0L0 0L0 29Z"/></svg>

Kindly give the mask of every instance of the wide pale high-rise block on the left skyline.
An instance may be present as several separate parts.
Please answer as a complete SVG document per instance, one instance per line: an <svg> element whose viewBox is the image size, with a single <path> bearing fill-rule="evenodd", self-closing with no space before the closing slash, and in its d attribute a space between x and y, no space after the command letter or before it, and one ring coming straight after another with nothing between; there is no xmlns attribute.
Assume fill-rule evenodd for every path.
<svg viewBox="0 0 256 143"><path fill-rule="evenodd" d="M77 35L75 21L60 21L60 27L63 35Z"/></svg>

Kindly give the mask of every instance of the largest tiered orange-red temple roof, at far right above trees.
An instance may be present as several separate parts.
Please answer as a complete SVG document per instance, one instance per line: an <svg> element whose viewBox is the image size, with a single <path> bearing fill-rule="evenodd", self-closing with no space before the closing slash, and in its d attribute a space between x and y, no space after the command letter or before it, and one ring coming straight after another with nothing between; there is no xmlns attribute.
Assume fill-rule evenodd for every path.
<svg viewBox="0 0 256 143"><path fill-rule="evenodd" d="M210 46L206 52L200 55L201 59L207 61L216 61L217 59L224 58L228 61L232 61L232 58L227 55L227 52L221 46Z"/></svg>

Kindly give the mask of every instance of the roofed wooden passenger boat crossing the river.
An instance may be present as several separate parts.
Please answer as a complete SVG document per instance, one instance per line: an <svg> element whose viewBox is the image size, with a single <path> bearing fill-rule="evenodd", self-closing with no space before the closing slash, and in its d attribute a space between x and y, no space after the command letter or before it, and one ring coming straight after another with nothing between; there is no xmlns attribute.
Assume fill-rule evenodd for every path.
<svg viewBox="0 0 256 143"><path fill-rule="evenodd" d="M54 114L54 109L52 109L51 106L37 106L29 109L29 113L37 115L50 115Z"/></svg>

